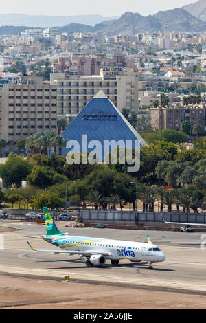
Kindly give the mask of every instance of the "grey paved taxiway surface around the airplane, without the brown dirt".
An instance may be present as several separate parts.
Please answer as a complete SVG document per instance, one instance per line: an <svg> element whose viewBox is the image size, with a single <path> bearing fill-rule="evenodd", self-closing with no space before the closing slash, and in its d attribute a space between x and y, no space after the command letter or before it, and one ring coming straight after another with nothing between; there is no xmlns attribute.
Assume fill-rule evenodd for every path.
<svg viewBox="0 0 206 323"><path fill-rule="evenodd" d="M53 280L64 280L65 276L69 275L73 282L132 288L139 286L162 291L175 289L181 293L199 293L206 296L206 251L203 252L200 248L200 233L100 230L87 227L70 228L65 225L66 223L57 223L62 232L77 236L146 242L146 235L149 234L151 241L163 250L166 260L164 263L154 264L152 271L148 270L148 263L130 263L128 260L122 260L117 267L111 266L107 261L104 266L88 268L85 266L85 259L79 256L32 252L26 241L30 241L35 249L51 249L51 245L40 238L45 234L44 225L0 222L0 230L1 227L18 229L2 233L5 249L0 251L0 274L36 276Z"/></svg>

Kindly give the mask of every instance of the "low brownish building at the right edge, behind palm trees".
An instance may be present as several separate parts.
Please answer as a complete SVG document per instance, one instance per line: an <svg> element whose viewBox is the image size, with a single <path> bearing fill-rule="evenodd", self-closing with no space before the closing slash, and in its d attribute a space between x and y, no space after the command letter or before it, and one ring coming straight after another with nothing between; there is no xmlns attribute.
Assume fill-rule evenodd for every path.
<svg viewBox="0 0 206 323"><path fill-rule="evenodd" d="M170 108L151 108L151 126L153 129L181 129L181 123L190 120L191 130L195 124L200 124L205 132L205 107L170 107Z"/></svg>

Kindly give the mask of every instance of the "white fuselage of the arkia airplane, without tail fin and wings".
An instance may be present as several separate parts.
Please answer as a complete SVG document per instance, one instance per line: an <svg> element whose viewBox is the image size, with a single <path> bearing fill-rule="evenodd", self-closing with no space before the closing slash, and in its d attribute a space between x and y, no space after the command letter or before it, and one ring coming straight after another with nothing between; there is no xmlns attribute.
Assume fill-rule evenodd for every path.
<svg viewBox="0 0 206 323"><path fill-rule="evenodd" d="M135 241L121 241L104 238L91 238L85 236L45 236L45 241L69 252L95 252L96 254L111 254L105 256L110 260L128 259L131 261L147 261L159 263L165 260L163 252L152 243L139 243Z"/></svg>

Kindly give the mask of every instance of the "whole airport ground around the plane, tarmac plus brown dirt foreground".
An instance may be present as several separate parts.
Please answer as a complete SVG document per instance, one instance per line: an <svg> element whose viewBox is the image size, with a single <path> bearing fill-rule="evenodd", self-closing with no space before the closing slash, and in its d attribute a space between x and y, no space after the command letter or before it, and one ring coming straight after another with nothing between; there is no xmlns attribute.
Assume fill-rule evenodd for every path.
<svg viewBox="0 0 206 323"><path fill-rule="evenodd" d="M39 300L38 297L34 297L35 295L40 297L41 293L38 294L37 290L35 292L33 290L34 293L32 293L32 288L38 287L45 295L43 285L47 286L47 288L45 287L46 291L56 290L56 285L60 285L60 289L64 292L60 294L62 297L58 298L58 307L64 306L65 308L64 300L67 300L67 308L70 309L133 309L135 304L138 304L137 308L206 308L206 251L202 251L200 247L203 242L201 238L204 238L201 237L201 233L146 232L91 227L72 228L65 227L67 223L61 222L57 225L62 232L68 232L71 235L126 241L146 242L147 234L149 234L151 241L163 250L166 260L163 263L154 264L154 270L148 270L147 263L136 264L130 263L128 260L122 260L117 267L111 266L110 262L106 262L106 265L102 267L86 267L84 258L78 256L69 257L63 254L32 252L26 241L30 241L36 249L51 249L51 245L40 238L45 234L44 225L2 221L0 233L4 236L4 250L0 251L1 308L10 308L10 305L15 305L18 308L31 308L31 306L32 308L40 308L41 306L49 308L49 304L45 305L44 298ZM10 232L8 227L18 230ZM65 276L70 276L69 282L64 281ZM25 280L27 284L25 284ZM73 289L73 293L69 293L69 296L66 293L68 291L68 287L65 287L68 286L67 284L70 291ZM23 296L25 285L30 298ZM14 297L14 286L18 291L16 298ZM8 298L3 297L2 293L5 291ZM102 293L103 296L105 294L105 300L96 303L98 301L96 297L91 304L89 300L93 295L92 291L95 295ZM88 294L90 295L89 299L86 297ZM153 295L152 302L148 302L148 294L150 298ZM51 298L51 294L49 295L52 304L54 304L55 300ZM123 304L115 305L111 302L112 297L117 302L118 298L120 301L123 295L128 295L124 300L125 307ZM136 302L135 296L139 296L141 302ZM169 296L170 298L168 298ZM144 302L144 297L146 302ZM82 303L82 298L84 298L84 303ZM41 305L43 303L44 305ZM88 307L84 307L84 305Z"/></svg>

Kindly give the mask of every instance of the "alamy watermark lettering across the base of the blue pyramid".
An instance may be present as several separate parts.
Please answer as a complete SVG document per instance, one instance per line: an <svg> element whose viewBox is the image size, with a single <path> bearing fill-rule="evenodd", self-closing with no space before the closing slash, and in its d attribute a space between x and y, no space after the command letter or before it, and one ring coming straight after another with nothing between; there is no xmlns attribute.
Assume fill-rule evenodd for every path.
<svg viewBox="0 0 206 323"><path fill-rule="evenodd" d="M128 172L138 172L140 168L140 143L138 140L91 140L82 135L81 142L67 142L67 163L69 165L111 164L127 165Z"/></svg>

